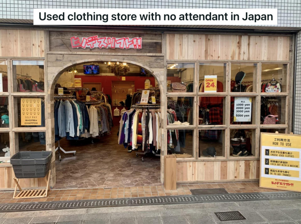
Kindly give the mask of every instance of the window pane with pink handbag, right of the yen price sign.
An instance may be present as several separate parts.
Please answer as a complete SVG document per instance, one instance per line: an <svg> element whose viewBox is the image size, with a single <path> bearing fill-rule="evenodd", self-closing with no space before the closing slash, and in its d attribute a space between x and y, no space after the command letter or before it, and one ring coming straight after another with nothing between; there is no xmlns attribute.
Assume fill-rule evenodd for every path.
<svg viewBox="0 0 301 224"><path fill-rule="evenodd" d="M285 96L261 96L261 124L285 124L285 98Z"/></svg>

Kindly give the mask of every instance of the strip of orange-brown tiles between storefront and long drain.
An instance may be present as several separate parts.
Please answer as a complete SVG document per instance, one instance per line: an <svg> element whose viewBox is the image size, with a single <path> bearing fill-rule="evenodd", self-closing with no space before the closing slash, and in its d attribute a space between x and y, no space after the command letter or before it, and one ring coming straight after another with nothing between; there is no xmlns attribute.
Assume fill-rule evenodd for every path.
<svg viewBox="0 0 301 224"><path fill-rule="evenodd" d="M258 182L227 182L177 184L177 190L164 190L163 185L113 188L81 188L50 190L47 198L41 199L12 199L13 192L0 192L0 204L41 201L92 200L136 197L157 197L169 195L188 195L190 189L225 188L228 193L275 192L277 190L259 188Z"/></svg>

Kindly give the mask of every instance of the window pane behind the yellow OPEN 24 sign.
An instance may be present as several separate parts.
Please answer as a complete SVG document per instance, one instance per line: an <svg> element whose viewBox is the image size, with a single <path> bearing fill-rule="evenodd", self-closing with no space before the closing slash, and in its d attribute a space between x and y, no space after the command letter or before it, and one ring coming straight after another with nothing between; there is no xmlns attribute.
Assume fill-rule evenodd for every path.
<svg viewBox="0 0 301 224"><path fill-rule="evenodd" d="M216 75L217 76L217 84L216 90L217 92L225 92L226 91L226 71L227 64L226 63L200 63L199 65L199 92L204 92L204 79L207 75Z"/></svg>

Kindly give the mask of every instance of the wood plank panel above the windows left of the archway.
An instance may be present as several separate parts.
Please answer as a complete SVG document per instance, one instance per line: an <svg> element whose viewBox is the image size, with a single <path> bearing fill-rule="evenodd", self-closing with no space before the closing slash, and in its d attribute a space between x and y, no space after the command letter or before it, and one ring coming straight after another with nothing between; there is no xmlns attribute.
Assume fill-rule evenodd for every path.
<svg viewBox="0 0 301 224"><path fill-rule="evenodd" d="M0 30L0 56L44 57L43 30Z"/></svg>

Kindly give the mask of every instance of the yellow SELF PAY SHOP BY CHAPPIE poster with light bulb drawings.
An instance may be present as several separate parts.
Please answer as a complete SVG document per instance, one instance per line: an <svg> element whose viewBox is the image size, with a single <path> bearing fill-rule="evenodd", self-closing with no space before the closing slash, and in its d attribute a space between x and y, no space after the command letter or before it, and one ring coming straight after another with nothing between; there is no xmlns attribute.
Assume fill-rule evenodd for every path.
<svg viewBox="0 0 301 224"><path fill-rule="evenodd" d="M41 125L41 103L40 98L21 98L21 125Z"/></svg>

